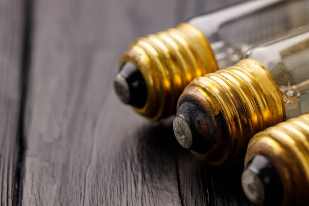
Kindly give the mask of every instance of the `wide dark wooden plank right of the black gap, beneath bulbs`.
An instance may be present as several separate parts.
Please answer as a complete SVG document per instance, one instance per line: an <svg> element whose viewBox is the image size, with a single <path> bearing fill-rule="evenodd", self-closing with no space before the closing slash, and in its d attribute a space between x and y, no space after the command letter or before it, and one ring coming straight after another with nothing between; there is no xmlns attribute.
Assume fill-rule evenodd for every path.
<svg viewBox="0 0 309 206"><path fill-rule="evenodd" d="M220 188L231 183L224 170L203 176L208 167L178 145L172 119L150 123L113 91L122 51L174 26L177 3L36 1L22 205L244 203L239 182Z"/></svg>

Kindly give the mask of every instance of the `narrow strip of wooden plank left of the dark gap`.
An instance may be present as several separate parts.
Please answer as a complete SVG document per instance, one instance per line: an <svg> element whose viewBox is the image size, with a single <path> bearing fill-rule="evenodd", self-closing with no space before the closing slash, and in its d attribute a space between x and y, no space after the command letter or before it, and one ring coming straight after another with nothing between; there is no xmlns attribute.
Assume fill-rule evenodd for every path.
<svg viewBox="0 0 309 206"><path fill-rule="evenodd" d="M0 1L0 193L1 206L17 205L23 141L20 135L25 2Z"/></svg>

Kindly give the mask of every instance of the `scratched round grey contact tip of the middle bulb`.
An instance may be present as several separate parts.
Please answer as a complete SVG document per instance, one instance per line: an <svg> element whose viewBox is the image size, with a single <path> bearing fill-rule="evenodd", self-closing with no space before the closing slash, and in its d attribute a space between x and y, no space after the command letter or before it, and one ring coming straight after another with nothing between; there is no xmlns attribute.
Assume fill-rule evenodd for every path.
<svg viewBox="0 0 309 206"><path fill-rule="evenodd" d="M192 146L190 124L184 118L177 116L173 122L173 129L179 144L185 149L190 149Z"/></svg>

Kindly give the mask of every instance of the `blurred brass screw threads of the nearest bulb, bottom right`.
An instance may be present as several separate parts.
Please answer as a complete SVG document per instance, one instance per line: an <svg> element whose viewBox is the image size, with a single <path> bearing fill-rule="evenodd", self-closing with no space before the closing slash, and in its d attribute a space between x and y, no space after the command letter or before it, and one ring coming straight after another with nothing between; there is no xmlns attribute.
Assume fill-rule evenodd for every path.
<svg viewBox="0 0 309 206"><path fill-rule="evenodd" d="M283 206L309 205L309 114L269 127L250 140L245 165L263 155L279 173Z"/></svg>

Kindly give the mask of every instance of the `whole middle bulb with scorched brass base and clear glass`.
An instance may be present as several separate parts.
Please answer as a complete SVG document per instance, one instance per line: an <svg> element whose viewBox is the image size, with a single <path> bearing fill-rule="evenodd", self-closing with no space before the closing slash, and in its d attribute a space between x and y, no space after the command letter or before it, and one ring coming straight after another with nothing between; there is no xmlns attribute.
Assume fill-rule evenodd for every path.
<svg viewBox="0 0 309 206"><path fill-rule="evenodd" d="M309 27L249 49L237 64L194 79L178 100L174 133L220 165L257 132L309 111Z"/></svg>

